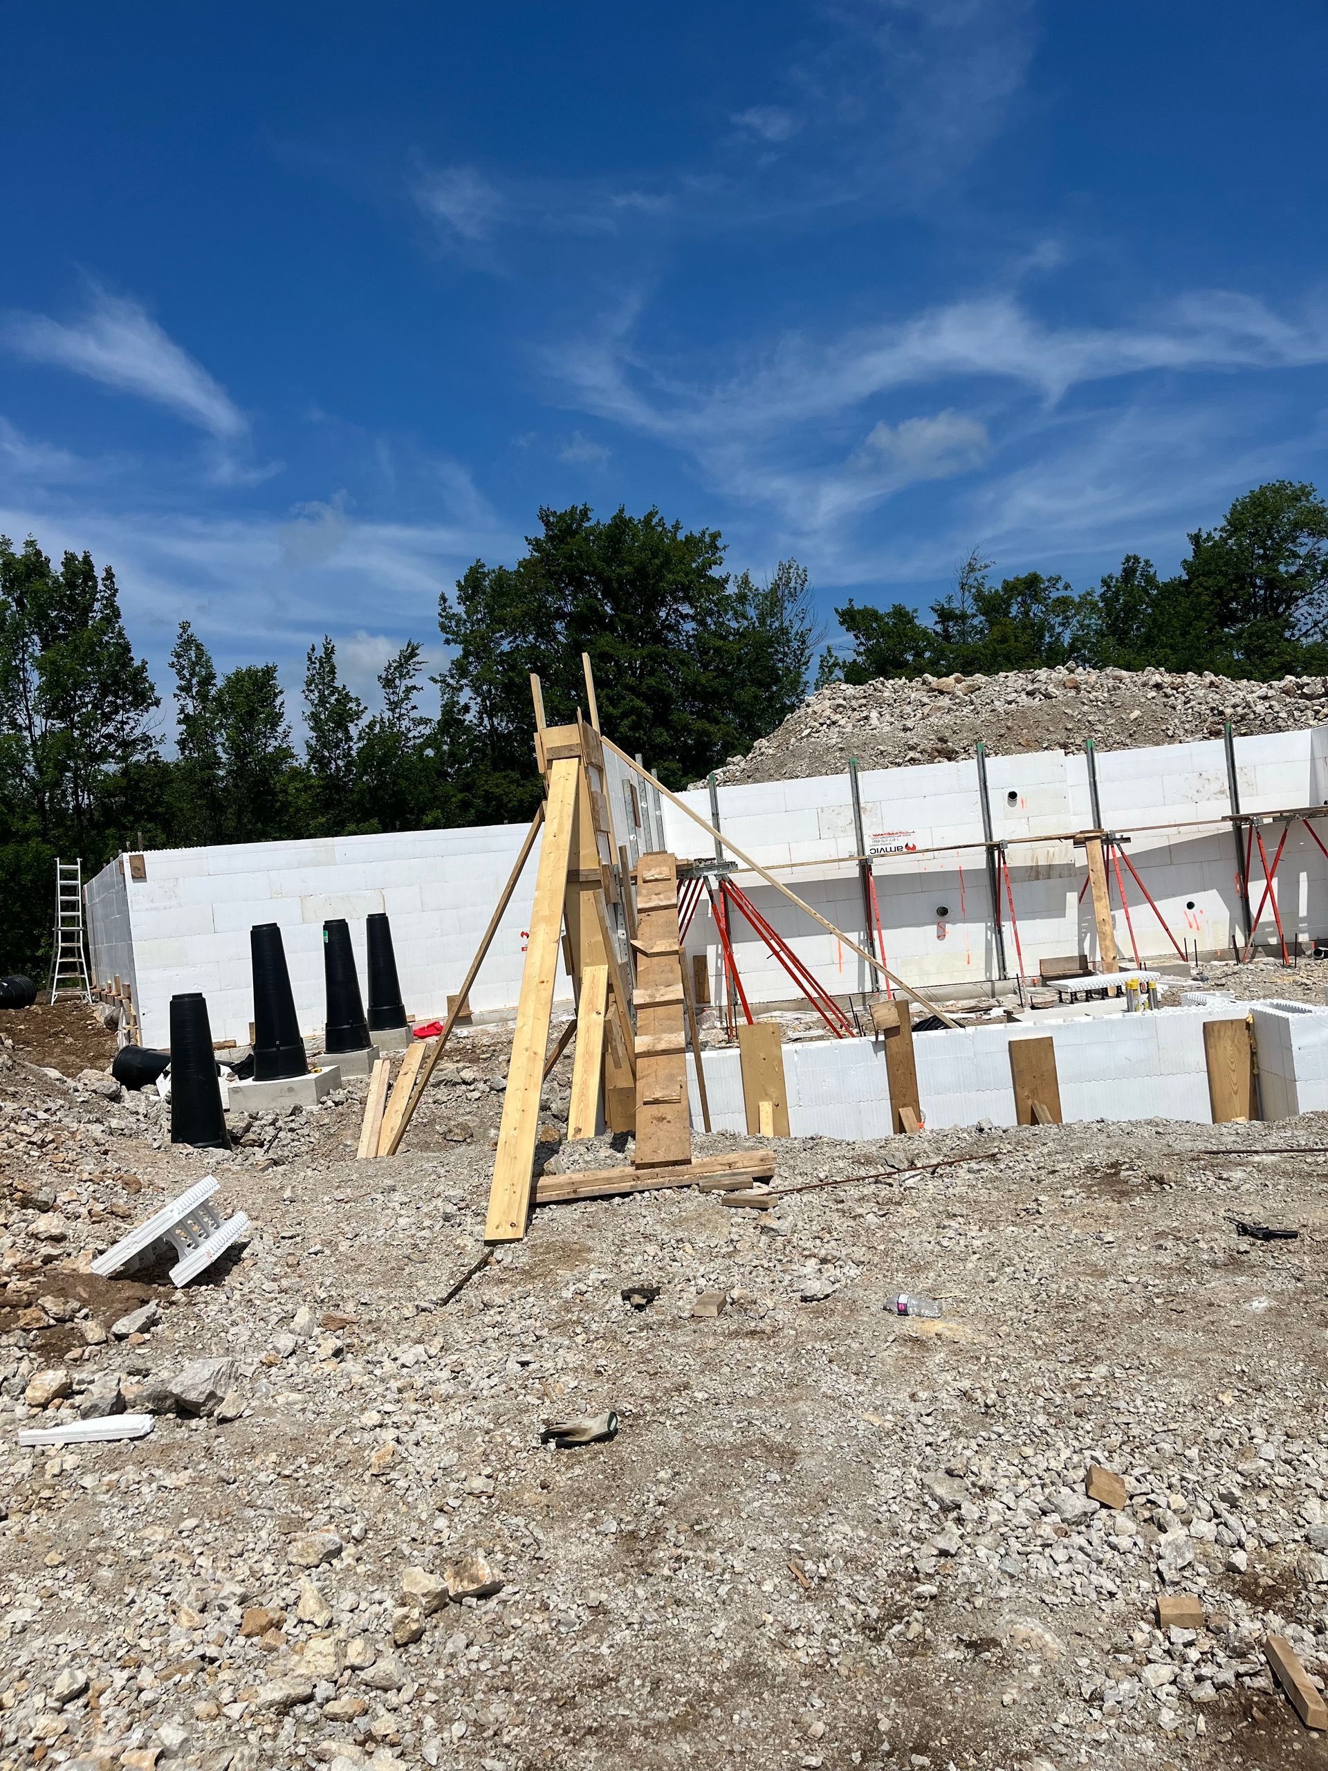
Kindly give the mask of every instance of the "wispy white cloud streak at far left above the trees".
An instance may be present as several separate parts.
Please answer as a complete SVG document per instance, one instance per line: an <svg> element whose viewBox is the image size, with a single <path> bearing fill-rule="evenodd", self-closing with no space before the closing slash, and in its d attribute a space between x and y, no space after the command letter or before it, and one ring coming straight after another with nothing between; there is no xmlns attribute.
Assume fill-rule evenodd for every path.
<svg viewBox="0 0 1328 1771"><path fill-rule="evenodd" d="M94 289L80 319L14 313L4 333L9 347L30 361L53 363L106 388L136 393L218 441L234 443L248 430L225 388L126 296Z"/></svg>

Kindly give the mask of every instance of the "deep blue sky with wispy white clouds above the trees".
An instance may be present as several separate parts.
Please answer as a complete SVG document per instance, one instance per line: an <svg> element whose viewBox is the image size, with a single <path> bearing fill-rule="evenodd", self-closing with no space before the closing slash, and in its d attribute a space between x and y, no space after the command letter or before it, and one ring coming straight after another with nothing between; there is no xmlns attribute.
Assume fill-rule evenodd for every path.
<svg viewBox="0 0 1328 1771"><path fill-rule="evenodd" d="M1328 487L1321 4L21 7L0 530L352 680L538 505L832 607Z"/></svg>

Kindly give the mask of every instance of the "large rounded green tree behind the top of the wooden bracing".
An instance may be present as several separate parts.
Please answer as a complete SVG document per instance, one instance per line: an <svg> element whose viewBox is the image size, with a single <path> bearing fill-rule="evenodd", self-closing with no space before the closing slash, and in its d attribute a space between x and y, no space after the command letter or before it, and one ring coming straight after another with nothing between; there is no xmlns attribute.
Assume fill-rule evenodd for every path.
<svg viewBox="0 0 1328 1771"><path fill-rule="evenodd" d="M811 634L793 561L763 590L735 583L717 531L683 531L659 510L597 521L584 505L540 510L526 547L513 567L476 560L439 600L455 648L441 680L473 728L478 820L528 815L538 799L531 671L549 719L572 719L586 652L604 728L669 785L770 731L804 692L793 677Z"/></svg>

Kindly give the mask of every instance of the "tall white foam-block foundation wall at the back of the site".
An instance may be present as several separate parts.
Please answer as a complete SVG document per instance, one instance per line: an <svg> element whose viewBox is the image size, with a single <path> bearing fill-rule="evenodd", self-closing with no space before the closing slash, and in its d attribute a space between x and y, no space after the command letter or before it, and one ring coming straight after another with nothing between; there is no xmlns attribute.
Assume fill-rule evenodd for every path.
<svg viewBox="0 0 1328 1771"><path fill-rule="evenodd" d="M1328 730L1268 733L1236 740L1243 813L1321 806L1328 799ZM648 758L646 758L648 760ZM859 776L868 848L878 850L876 894L885 958L921 988L961 988L997 974L992 903L981 841L977 770L972 760L910 769L862 770ZM1225 751L1220 739L1137 751L1100 751L1101 816L1131 836L1133 866L1176 939L1202 953L1231 949L1243 939L1236 891L1236 848L1220 820L1229 811ZM636 859L664 845L682 857L712 857L714 838L668 800L632 781L609 756L606 799L614 839ZM1082 754L1038 751L988 760L993 836L1011 843L1009 889L1018 944L1004 901L1006 971L1036 974L1041 960L1084 953L1096 958L1091 898L1080 901L1084 852L1066 839L1089 829L1087 763ZM710 818L705 790L682 795ZM641 820L637 824L637 818ZM1209 820L1204 829L1186 829ZM848 774L754 786L719 788L726 836L822 916L862 946L875 946L853 862L853 815ZM1162 825L1147 831L1146 825ZM1280 825L1264 829L1271 862ZM441 1017L460 988L494 903L524 838L521 825L466 831L413 831L384 836L251 843L225 848L152 850L143 878L119 857L87 887L87 917L96 976L133 983L143 1038L165 1043L170 997L202 990L212 1038L246 1040L253 1015L250 928L278 923L285 937L299 1025L317 1032L324 1020L322 923L351 924L365 979L365 916L391 917L405 1008L416 1018ZM1328 841L1328 822L1321 824ZM1034 841L1022 841L1034 838ZM937 850L937 852L921 852ZM524 960L524 932L535 891L538 845L508 914L471 990L478 1015L515 1009ZM1162 924L1123 868L1126 901L1142 960L1177 958ZM871 988L866 963L806 917L754 873L738 871L761 916L783 935L818 981L836 992ZM1262 889L1257 847L1254 898ZM1112 882L1116 937L1123 963L1133 958L1130 928ZM1277 870L1277 905L1287 940L1301 946L1328 933L1328 861L1301 824L1289 827ZM797 995L763 940L733 921L738 971L753 1004ZM1277 935L1264 912L1261 944ZM712 992L721 953L703 900L687 935L689 953L705 953ZM570 1004L560 971L556 999Z"/></svg>

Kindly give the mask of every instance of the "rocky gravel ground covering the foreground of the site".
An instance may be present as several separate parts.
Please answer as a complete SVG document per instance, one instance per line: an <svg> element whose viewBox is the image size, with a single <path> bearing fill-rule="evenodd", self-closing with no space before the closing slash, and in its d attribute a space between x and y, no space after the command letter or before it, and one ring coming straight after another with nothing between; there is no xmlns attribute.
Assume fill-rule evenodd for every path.
<svg viewBox="0 0 1328 1771"><path fill-rule="evenodd" d="M1324 1760L1262 1654L1328 1672L1323 1116L779 1141L770 1211L549 1206L443 1305L505 1050L358 1164L363 1086L218 1160L0 1048L0 1771ZM209 1169L237 1259L89 1279ZM154 1433L16 1445L120 1404Z"/></svg>

